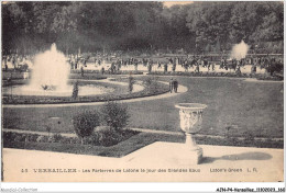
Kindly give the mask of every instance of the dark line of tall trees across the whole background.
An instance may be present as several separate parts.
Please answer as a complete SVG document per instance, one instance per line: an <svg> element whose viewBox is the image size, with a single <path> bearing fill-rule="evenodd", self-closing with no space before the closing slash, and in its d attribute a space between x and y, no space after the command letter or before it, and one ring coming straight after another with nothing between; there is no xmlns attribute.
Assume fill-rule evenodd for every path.
<svg viewBox="0 0 286 193"><path fill-rule="evenodd" d="M242 39L257 53L283 53L283 2L9 2L2 4L2 50L23 54L52 43L65 53L230 50Z"/></svg>

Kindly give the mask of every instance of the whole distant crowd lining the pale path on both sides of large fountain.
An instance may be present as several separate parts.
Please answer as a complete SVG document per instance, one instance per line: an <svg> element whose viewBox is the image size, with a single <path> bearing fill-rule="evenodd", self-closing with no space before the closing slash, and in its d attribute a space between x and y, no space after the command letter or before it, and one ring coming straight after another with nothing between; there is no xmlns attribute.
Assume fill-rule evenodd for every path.
<svg viewBox="0 0 286 193"><path fill-rule="evenodd" d="M31 68L33 56L31 55L4 55L2 57L2 68L8 70L9 63L10 68L14 69L28 69ZM138 71L139 66L142 65L146 67L148 72L155 69L161 69L164 72L173 71L175 72L178 66L182 66L185 71L193 69L195 72L200 72L200 68L207 68L208 71L216 71L217 66L219 69L233 70L235 73L241 73L241 67L245 65L251 65L251 73L255 73L257 67L263 69L267 68L275 63L283 64L282 58L276 58L270 55L263 56L248 56L242 59L227 59L223 56L199 56L199 55L185 55L176 57L128 57L122 55L68 55L67 61L70 65L70 69L80 69L81 73L87 65L94 64L100 68L101 73L116 73L121 70L122 67L132 66L135 71ZM107 67L106 64L109 64ZM168 69L170 68L170 69Z"/></svg>

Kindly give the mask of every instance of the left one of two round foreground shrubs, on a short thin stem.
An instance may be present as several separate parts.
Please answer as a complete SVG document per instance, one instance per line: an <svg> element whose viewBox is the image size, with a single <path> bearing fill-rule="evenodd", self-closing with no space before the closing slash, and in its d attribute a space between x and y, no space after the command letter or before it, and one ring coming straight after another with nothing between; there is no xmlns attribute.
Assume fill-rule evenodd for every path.
<svg viewBox="0 0 286 193"><path fill-rule="evenodd" d="M86 111L74 116L73 124L76 135L81 139L81 144L84 144L84 138L90 136L94 128L100 125L99 114L96 111Z"/></svg>

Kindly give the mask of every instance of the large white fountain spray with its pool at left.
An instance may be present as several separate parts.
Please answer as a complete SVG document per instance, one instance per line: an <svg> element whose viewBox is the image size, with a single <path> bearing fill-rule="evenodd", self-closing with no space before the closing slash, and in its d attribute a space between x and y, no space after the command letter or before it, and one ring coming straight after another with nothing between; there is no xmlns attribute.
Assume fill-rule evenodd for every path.
<svg viewBox="0 0 286 193"><path fill-rule="evenodd" d="M72 96L73 86L68 84L70 72L65 55L52 44L51 49L34 58L31 81L26 86L12 86L15 95ZM112 92L112 88L95 84L79 87L78 95L98 95ZM3 89L9 92L8 88Z"/></svg>

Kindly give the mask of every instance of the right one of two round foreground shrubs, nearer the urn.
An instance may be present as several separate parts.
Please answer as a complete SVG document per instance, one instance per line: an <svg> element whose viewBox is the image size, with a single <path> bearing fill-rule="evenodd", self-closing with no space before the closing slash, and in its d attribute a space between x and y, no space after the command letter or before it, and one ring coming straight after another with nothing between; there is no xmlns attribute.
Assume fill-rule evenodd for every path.
<svg viewBox="0 0 286 193"><path fill-rule="evenodd" d="M101 109L102 121L116 130L128 125L130 117L128 106L114 101L108 101Z"/></svg>

